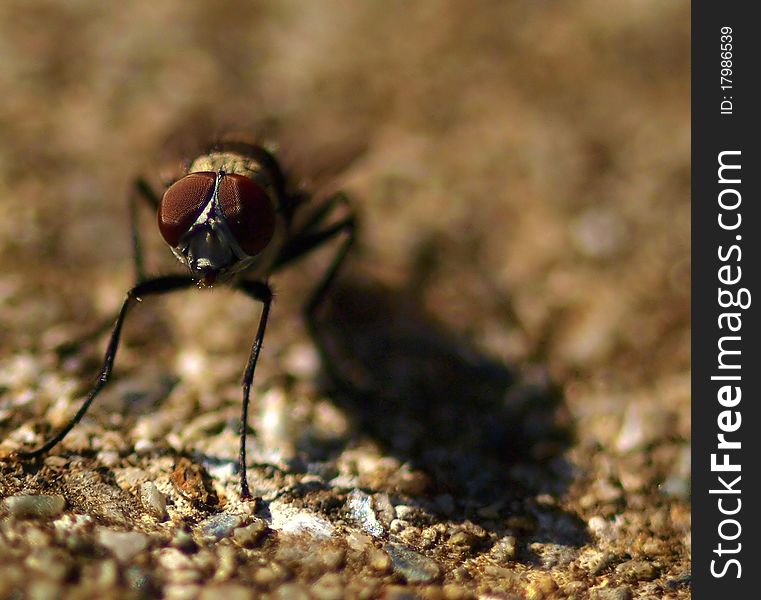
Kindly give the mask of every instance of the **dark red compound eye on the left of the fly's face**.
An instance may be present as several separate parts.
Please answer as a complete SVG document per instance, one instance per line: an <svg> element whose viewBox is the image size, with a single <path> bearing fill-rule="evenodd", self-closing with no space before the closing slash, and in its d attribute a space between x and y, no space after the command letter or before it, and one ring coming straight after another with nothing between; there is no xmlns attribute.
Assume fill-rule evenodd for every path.
<svg viewBox="0 0 761 600"><path fill-rule="evenodd" d="M195 223L214 191L216 173L190 173L164 192L159 204L159 231L170 246L176 246Z"/></svg>

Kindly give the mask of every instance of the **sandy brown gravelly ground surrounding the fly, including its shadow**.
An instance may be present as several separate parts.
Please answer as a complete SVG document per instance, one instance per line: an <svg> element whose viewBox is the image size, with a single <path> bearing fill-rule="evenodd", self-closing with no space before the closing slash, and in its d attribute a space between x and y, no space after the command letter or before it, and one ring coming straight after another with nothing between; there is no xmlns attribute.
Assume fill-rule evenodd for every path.
<svg viewBox="0 0 761 600"><path fill-rule="evenodd" d="M4 2L0 64L0 598L689 597L687 2ZM133 178L255 128L361 222L337 380L330 252L273 281L261 500L223 288L138 307L19 461L97 373L60 346L131 283Z"/></svg>

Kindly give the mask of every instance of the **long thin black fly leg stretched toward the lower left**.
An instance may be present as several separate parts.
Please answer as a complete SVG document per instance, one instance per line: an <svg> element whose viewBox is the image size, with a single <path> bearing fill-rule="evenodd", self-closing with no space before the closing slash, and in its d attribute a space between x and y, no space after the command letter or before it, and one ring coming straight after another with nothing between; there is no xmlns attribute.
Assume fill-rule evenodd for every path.
<svg viewBox="0 0 761 600"><path fill-rule="evenodd" d="M90 393L87 395L87 398L82 403L82 406L77 411L77 414L72 417L66 426L63 427L63 429L61 429L58 433L46 441L42 446L35 450L18 452L18 456L22 458L35 458L45 454L64 437L66 437L69 431L71 431L74 426L79 423L79 421L87 412L87 409L90 408L93 400L95 400L101 389L103 389L103 387L108 383L108 379L114 367L116 351L119 349L119 339L121 337L122 326L124 325L124 321L127 317L127 313L129 312L130 307L135 302L140 302L145 296L174 292L176 290L181 290L192 285L195 285L195 280L192 277L174 275L147 279L138 283L129 292L127 292L127 297L124 299L121 310L119 310L119 316L116 319L114 330L111 333L111 339L108 342L106 356L103 360L103 366L100 369L98 379L90 390Z"/></svg>

